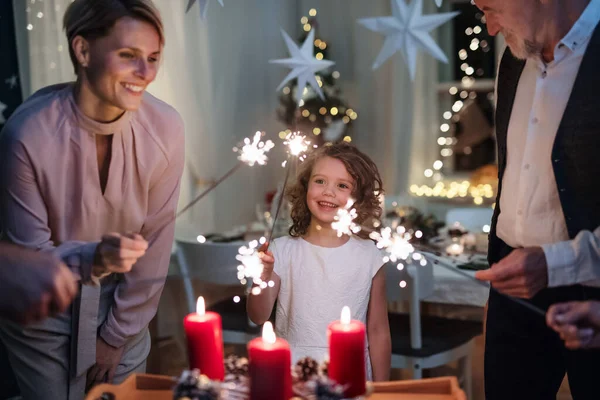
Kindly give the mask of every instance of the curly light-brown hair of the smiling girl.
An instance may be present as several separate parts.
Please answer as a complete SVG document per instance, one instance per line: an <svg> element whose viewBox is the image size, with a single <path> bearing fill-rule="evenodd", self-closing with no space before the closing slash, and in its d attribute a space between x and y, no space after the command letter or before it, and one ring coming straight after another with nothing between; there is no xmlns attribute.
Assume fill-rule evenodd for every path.
<svg viewBox="0 0 600 400"><path fill-rule="evenodd" d="M369 156L359 151L355 146L340 142L326 145L313 151L300 164L296 182L286 190L286 197L291 203L292 226L290 236L299 237L308 232L311 213L306 202L308 183L312 170L318 160L331 157L344 163L348 174L354 179L352 198L358 214L355 222L364 227L373 227L381 219L382 209L379 195L383 194L383 184L377 165ZM367 239L369 233L360 231L357 236Z"/></svg>

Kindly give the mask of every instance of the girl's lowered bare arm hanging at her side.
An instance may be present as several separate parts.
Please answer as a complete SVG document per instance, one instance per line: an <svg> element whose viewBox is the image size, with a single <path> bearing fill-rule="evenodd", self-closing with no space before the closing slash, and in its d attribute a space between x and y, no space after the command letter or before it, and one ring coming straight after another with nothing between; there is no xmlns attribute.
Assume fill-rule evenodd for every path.
<svg viewBox="0 0 600 400"><path fill-rule="evenodd" d="M380 268L371 285L367 315L369 354L373 366L373 381L388 381L392 362L392 338L385 297L385 270Z"/></svg>

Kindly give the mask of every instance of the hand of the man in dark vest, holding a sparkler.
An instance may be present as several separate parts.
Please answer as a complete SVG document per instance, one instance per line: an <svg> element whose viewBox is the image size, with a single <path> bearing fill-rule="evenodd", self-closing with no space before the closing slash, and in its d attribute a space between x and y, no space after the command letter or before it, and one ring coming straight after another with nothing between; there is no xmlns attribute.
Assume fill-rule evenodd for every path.
<svg viewBox="0 0 600 400"><path fill-rule="evenodd" d="M475 278L489 281L501 293L530 299L548 286L548 264L541 247L513 250L490 269L478 271Z"/></svg>

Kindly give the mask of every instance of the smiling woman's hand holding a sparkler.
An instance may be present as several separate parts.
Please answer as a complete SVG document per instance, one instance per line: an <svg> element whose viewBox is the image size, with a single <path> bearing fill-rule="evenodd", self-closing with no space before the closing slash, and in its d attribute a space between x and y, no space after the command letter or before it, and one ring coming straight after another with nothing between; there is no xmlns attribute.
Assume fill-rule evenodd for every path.
<svg viewBox="0 0 600 400"><path fill-rule="evenodd" d="M104 235L96 248L92 274L102 276L111 272L129 272L133 264L146 253L146 249L148 249L148 242L137 233Z"/></svg>

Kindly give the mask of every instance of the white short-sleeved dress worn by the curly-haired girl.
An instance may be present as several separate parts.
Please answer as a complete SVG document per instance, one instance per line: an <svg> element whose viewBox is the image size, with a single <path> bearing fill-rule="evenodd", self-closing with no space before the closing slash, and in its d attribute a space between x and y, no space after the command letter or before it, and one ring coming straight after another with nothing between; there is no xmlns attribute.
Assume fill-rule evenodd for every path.
<svg viewBox="0 0 600 400"><path fill-rule="evenodd" d="M305 356L321 362L328 354L327 326L340 319L344 306L352 319L367 323L371 283L382 255L372 241L354 236L335 248L286 236L276 239L271 251L281 279L276 333L290 343L293 362ZM365 355L372 379L368 340Z"/></svg>

